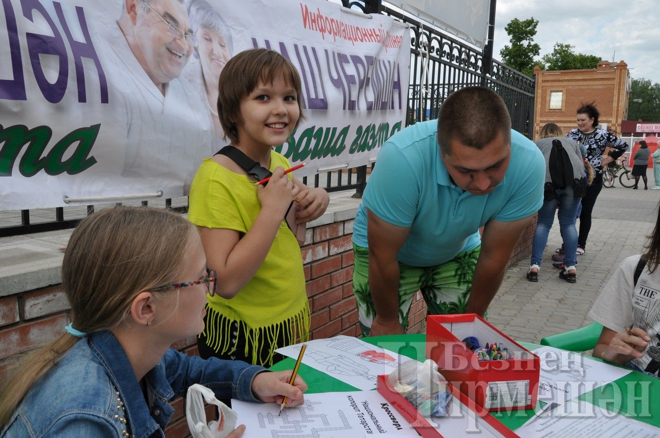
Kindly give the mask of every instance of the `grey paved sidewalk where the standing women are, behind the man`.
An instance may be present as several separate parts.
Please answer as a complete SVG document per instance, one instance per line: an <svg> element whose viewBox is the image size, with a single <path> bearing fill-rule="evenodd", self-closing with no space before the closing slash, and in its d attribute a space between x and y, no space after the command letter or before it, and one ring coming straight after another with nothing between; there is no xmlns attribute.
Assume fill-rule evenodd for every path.
<svg viewBox="0 0 660 438"><path fill-rule="evenodd" d="M648 174L652 184L652 170ZM578 256L576 284L561 280L558 270L552 268L550 256L562 244L555 218L539 282L525 278L529 259L510 268L488 309L490 323L514 339L527 342L539 342L550 334L592 323L587 312L593 301L619 263L642 252L646 236L655 226L660 190L643 188L626 189L618 181L611 189L603 188L593 210L586 253Z"/></svg>

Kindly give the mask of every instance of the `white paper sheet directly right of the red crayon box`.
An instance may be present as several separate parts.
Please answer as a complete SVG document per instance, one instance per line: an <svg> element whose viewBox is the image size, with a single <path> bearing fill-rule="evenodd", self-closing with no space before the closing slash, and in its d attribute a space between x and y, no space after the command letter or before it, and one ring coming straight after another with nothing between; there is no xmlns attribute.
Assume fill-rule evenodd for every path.
<svg viewBox="0 0 660 438"><path fill-rule="evenodd" d="M548 403L562 404L631 372L630 369L548 346L534 353L541 358L539 400Z"/></svg>

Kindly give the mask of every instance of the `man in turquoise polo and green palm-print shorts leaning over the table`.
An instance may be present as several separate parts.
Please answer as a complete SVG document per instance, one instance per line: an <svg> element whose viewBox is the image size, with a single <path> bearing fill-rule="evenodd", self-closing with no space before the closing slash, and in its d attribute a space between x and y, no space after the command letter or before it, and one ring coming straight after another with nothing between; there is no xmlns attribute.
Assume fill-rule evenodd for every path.
<svg viewBox="0 0 660 438"><path fill-rule="evenodd" d="M543 204L544 179L541 151L512 131L504 101L488 88L462 88L438 121L393 135L354 223L362 332L405 332L418 290L430 315L483 316Z"/></svg>

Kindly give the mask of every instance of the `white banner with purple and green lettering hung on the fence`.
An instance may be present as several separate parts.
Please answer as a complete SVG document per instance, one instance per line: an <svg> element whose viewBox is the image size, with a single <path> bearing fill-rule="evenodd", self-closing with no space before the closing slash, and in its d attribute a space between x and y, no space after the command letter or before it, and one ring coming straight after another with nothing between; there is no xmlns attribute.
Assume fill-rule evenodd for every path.
<svg viewBox="0 0 660 438"><path fill-rule="evenodd" d="M367 164L403 127L409 38L325 0L0 0L0 210L187 195L227 144L220 71L252 47L302 78L276 148L296 175Z"/></svg>

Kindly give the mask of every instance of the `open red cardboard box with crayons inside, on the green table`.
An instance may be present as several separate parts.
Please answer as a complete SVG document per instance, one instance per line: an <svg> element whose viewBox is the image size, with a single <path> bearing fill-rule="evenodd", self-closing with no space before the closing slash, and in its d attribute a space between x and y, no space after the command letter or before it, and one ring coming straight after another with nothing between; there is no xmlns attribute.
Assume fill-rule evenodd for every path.
<svg viewBox="0 0 660 438"><path fill-rule="evenodd" d="M475 336L480 344L502 344L510 360L480 361L462 340ZM459 391L489 411L533 409L539 395L541 361L523 346L475 313L429 315L426 357Z"/></svg>

